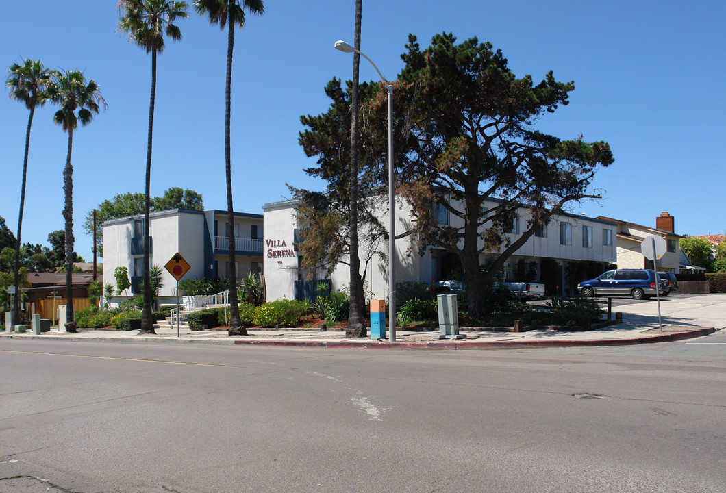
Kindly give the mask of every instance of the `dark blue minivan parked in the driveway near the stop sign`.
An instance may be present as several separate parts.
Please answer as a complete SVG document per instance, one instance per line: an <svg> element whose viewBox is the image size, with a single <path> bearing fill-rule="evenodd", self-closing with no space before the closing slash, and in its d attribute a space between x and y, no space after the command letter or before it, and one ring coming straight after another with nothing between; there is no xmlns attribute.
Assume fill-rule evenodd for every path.
<svg viewBox="0 0 726 493"><path fill-rule="evenodd" d="M583 296L630 296L635 300L662 294L665 289L666 282L650 269L615 269L577 285Z"/></svg>

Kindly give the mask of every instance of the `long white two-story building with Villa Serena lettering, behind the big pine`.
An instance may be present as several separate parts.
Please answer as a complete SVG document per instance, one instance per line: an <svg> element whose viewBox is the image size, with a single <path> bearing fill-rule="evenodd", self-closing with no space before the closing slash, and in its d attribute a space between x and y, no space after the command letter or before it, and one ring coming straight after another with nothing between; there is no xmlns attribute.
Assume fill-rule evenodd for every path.
<svg viewBox="0 0 726 493"><path fill-rule="evenodd" d="M404 201L396 203L396 235L401 235L412 227L412 215ZM311 282L323 277L316 273L317 280L307 281L301 269L301 258L293 243L296 230L301 226L296 202L286 200L268 203L263 206L265 229L264 272L268 299L301 298L309 296ZM446 211L439 211L439 223L457 227L456 221ZM522 206L515 216L510 239L521 235L526 229L529 209ZM388 224L388 211L385 205L380 207L380 221ZM537 230L521 248L507 261L505 270L513 272L517 262L524 259L528 264L539 266L544 258L551 258L558 264L560 292L566 286L566 266L571 261L595 262L603 266L616 261L615 233L616 224L606 219L592 219L560 213L552 217L547 226ZM481 240L482 242L484 240ZM371 250L374 248L374 250ZM377 245L361 245L361 274L365 274L366 289L375 298L388 297L388 260L381 252L388 251L387 240L380 240ZM486 264L489 257L497 252L484 253L480 264ZM394 268L396 282L426 282L441 280L446 277L447 259L450 253L436 248L419 252L409 240L396 241ZM345 288L349 282L348 266L340 264L330 276L334 290Z"/></svg>

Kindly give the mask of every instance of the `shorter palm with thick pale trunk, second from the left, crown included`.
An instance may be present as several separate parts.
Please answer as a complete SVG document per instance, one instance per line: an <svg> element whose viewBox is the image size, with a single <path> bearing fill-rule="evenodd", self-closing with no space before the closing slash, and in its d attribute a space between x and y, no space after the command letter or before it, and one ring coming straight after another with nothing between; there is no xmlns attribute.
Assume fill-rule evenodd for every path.
<svg viewBox="0 0 726 493"><path fill-rule="evenodd" d="M54 73L48 87L48 96L60 110L55 112L53 121L68 132L68 157L65 158L63 169L63 192L65 192L65 296L66 330L76 332L73 317L73 166L70 165L70 153L73 151L73 130L81 125L88 125L106 101L92 79L86 78L80 70L67 70L65 73ZM78 112L78 113L76 113Z"/></svg>

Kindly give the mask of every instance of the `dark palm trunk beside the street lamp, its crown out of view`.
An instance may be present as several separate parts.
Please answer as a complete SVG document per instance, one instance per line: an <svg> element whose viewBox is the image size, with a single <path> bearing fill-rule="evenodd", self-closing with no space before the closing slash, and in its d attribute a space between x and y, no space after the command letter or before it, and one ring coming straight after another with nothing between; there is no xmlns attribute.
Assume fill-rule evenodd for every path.
<svg viewBox="0 0 726 493"><path fill-rule="evenodd" d="M356 50L361 47L362 0L356 0L356 24L354 45ZM351 88L351 166L350 166L350 268L351 268L351 309L348 312L348 337L363 337L367 330L363 323L363 280L360 274L360 258L358 256L358 69L360 55L353 52L353 86Z"/></svg>

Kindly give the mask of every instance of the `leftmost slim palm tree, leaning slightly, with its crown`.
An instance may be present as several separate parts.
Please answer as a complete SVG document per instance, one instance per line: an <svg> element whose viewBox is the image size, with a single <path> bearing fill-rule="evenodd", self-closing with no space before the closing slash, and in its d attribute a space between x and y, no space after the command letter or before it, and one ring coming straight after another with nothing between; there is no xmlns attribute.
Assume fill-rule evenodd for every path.
<svg viewBox="0 0 726 493"><path fill-rule="evenodd" d="M30 110L28 129L25 131L25 157L23 158L23 178L20 182L20 213L17 217L17 237L15 238L15 293L20 295L20 230L23 229L23 208L25 207L25 177L28 171L28 150L30 149L30 126L33 125L33 114L36 105L43 106L46 102L46 89L50 82L52 70L43 66L40 60L25 60L23 65L13 63L8 69L6 85L10 89L10 99L23 102ZM20 296L15 296L13 303L13 319L20 323Z"/></svg>

